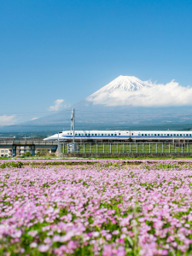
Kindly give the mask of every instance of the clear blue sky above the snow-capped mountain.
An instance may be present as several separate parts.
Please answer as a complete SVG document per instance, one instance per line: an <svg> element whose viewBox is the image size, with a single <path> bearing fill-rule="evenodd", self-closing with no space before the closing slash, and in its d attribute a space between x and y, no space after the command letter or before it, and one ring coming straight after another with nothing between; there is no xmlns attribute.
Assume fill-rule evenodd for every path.
<svg viewBox="0 0 192 256"><path fill-rule="evenodd" d="M191 13L185 0L0 0L0 125L119 75L192 85Z"/></svg>

